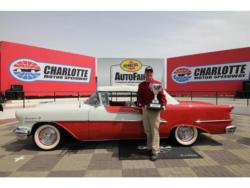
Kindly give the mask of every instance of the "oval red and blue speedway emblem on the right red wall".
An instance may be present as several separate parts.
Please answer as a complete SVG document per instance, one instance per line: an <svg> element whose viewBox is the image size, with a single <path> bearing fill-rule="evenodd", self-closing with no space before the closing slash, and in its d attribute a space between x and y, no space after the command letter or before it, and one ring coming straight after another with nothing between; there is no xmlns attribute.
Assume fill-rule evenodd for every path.
<svg viewBox="0 0 250 188"><path fill-rule="evenodd" d="M188 67L177 67L172 72L172 79L177 83L187 83L192 77L192 71Z"/></svg>

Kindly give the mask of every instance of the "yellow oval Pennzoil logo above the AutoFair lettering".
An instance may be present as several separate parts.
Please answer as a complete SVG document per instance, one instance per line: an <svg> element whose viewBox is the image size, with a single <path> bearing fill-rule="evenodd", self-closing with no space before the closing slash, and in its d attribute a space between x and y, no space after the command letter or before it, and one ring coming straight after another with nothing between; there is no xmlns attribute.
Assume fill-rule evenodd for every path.
<svg viewBox="0 0 250 188"><path fill-rule="evenodd" d="M137 72L141 70L142 63L136 59L126 59L121 62L120 67L126 72Z"/></svg>

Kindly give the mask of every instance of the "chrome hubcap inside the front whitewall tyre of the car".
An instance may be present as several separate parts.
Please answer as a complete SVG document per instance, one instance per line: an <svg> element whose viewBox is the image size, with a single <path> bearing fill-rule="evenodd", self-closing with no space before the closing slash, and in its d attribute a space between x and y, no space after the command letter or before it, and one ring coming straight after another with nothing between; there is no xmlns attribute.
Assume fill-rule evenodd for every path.
<svg viewBox="0 0 250 188"><path fill-rule="evenodd" d="M57 133L54 129L46 127L39 132L39 141L44 145L52 145L57 140Z"/></svg>

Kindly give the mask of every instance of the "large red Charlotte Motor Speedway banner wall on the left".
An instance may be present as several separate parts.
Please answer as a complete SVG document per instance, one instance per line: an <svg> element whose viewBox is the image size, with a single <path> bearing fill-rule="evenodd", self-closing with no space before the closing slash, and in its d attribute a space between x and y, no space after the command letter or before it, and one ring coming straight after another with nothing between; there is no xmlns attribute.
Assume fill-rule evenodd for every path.
<svg viewBox="0 0 250 188"><path fill-rule="evenodd" d="M90 95L96 89L91 56L0 42L0 92L22 85L26 96Z"/></svg>

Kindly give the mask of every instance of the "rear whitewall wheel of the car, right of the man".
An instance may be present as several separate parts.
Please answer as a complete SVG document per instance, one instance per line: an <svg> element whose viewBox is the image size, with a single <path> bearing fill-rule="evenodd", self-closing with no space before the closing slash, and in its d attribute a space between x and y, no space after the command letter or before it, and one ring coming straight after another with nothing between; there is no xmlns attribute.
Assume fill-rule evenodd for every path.
<svg viewBox="0 0 250 188"><path fill-rule="evenodd" d="M179 126L174 131L176 142L183 146L191 146L198 139L198 130L191 126Z"/></svg>

